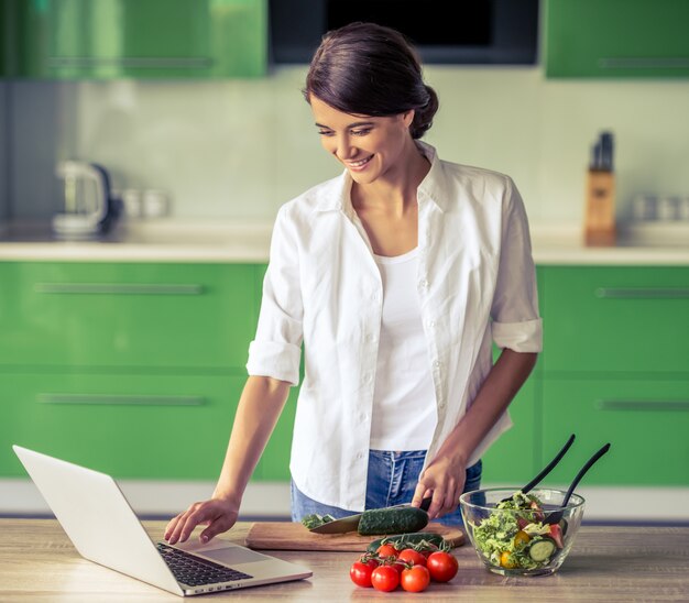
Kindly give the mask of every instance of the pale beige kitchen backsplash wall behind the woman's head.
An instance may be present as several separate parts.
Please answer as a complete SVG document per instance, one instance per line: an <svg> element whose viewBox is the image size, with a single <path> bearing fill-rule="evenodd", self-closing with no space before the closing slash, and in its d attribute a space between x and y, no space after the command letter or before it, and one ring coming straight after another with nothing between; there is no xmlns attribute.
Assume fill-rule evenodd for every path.
<svg viewBox="0 0 689 603"><path fill-rule="evenodd" d="M0 133L11 144L0 150L0 201L4 195L17 219L52 216L54 165L79 158L107 166L119 189L166 191L175 217L272 219L284 201L340 172L302 97L305 73L4 84L9 132L0 121ZM581 222L590 144L602 130L615 136L620 215L631 213L637 193L689 194L689 81L547 80L539 67L425 73L440 98L425 140L444 158L512 175L532 221Z"/></svg>

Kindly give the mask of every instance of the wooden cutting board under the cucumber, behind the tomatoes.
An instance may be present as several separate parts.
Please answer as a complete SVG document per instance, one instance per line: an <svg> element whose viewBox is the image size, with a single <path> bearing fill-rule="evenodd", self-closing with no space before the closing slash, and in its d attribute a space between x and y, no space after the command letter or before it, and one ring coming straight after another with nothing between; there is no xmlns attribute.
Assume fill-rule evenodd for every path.
<svg viewBox="0 0 689 603"><path fill-rule="evenodd" d="M464 533L431 522L423 531L440 534L453 547L464 544ZM249 528L245 544L252 549L273 550L341 550L363 552L370 542L380 536L359 536L356 531L346 534L314 534L300 523L256 522Z"/></svg>

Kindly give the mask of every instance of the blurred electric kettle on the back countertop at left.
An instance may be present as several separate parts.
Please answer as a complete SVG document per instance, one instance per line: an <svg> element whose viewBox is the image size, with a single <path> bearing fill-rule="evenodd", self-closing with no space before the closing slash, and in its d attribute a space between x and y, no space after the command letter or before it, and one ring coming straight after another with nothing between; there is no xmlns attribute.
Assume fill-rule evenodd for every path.
<svg viewBox="0 0 689 603"><path fill-rule="evenodd" d="M64 208L53 217L55 235L94 239L108 232L120 209L108 172L96 163L66 161L56 165L55 174L64 179Z"/></svg>

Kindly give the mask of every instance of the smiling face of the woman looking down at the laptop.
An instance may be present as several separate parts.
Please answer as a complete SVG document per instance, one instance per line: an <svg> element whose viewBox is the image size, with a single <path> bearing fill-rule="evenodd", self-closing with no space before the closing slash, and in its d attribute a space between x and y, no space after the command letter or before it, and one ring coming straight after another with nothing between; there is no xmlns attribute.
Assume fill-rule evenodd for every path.
<svg viewBox="0 0 689 603"><path fill-rule="evenodd" d="M404 173L405 153L414 147L409 134L413 110L382 118L353 116L313 95L309 100L324 149L349 169L354 182L369 184Z"/></svg>

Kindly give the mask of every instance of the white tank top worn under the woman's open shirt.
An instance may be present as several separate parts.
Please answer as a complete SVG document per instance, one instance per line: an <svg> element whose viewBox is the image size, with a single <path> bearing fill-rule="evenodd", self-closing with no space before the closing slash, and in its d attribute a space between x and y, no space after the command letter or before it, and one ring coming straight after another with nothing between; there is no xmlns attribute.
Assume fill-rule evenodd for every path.
<svg viewBox="0 0 689 603"><path fill-rule="evenodd" d="M438 418L416 289L417 250L395 257L375 255L375 262L383 281L383 316L370 446L425 450Z"/></svg>

